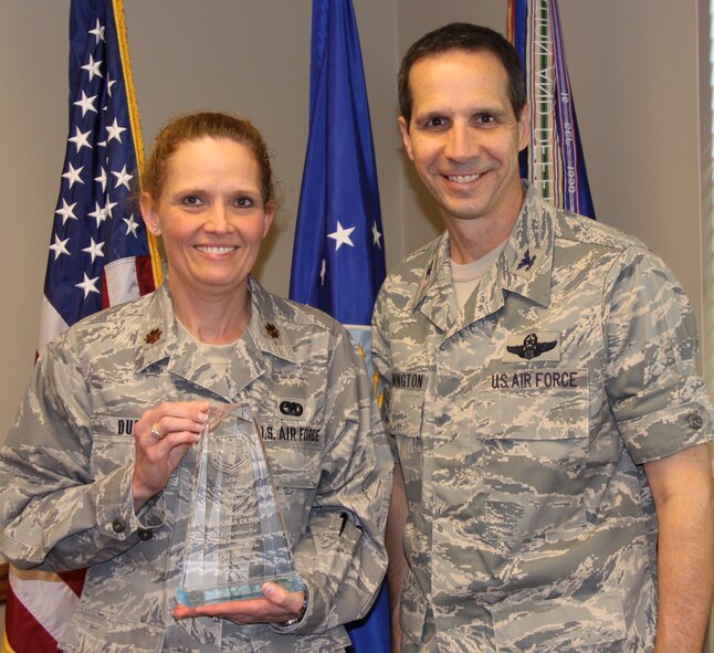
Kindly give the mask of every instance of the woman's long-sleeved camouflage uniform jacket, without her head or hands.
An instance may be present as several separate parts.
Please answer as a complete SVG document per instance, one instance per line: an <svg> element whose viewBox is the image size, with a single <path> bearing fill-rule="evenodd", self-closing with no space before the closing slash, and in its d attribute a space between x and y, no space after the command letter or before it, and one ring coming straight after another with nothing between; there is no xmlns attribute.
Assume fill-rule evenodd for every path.
<svg viewBox="0 0 714 653"><path fill-rule="evenodd" d="M21 568L88 567L60 646L97 651L338 651L386 568L389 450L370 385L332 318L250 280L251 318L217 373L162 286L56 338L0 452L0 548ZM134 512L133 429L164 401L246 403L308 590L286 628L176 621L196 451Z"/></svg>

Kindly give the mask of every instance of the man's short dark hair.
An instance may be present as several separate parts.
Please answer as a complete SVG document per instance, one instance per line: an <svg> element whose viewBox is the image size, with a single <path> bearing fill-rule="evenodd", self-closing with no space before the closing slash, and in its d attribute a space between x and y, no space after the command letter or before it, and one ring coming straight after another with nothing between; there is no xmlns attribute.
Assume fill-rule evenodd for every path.
<svg viewBox="0 0 714 653"><path fill-rule="evenodd" d="M508 75L508 99L516 118L526 105L526 89L521 69L521 60L515 48L498 32L471 23L450 23L433 32L424 34L405 54L399 67L399 112L407 120L411 120L413 97L409 87L411 66L420 59L442 54L451 50L466 52L490 52L503 64Z"/></svg>

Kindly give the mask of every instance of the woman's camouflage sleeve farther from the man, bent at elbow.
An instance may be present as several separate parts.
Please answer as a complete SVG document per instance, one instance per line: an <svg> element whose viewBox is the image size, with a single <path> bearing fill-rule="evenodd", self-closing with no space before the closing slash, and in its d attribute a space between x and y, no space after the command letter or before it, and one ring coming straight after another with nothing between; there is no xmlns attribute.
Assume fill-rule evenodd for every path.
<svg viewBox="0 0 714 653"><path fill-rule="evenodd" d="M114 558L162 522L162 502L135 516L133 461L94 478L85 370L71 335L38 361L0 450L0 550L19 568L62 571Z"/></svg>

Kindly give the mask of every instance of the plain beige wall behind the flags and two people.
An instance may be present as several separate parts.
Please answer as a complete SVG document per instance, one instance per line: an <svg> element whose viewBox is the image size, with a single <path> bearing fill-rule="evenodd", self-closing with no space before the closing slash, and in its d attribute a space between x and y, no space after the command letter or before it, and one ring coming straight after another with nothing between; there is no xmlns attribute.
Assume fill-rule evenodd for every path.
<svg viewBox="0 0 714 653"><path fill-rule="evenodd" d="M505 30L506 0L354 3L391 265L439 229L401 154L399 56L417 36L451 20ZM67 128L69 4L0 0L0 440L33 364ZM560 12L598 218L664 257L702 324L700 4L704 0L563 0ZM285 202L259 274L285 294L307 138L309 0L125 0L125 13L146 143L169 116L197 108L241 112L265 134Z"/></svg>

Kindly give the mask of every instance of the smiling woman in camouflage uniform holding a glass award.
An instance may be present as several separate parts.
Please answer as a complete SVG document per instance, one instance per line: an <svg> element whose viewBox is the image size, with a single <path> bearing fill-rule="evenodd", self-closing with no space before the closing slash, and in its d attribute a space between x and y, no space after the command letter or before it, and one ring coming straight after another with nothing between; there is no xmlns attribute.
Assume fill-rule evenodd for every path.
<svg viewBox="0 0 714 653"><path fill-rule="evenodd" d="M250 275L276 210L250 123L169 123L143 181L168 281L38 362L0 452L2 552L88 568L67 652L340 651L386 568L389 454L363 362L337 323ZM234 402L261 425L304 591L177 607L193 444L209 407Z"/></svg>

